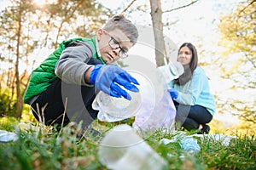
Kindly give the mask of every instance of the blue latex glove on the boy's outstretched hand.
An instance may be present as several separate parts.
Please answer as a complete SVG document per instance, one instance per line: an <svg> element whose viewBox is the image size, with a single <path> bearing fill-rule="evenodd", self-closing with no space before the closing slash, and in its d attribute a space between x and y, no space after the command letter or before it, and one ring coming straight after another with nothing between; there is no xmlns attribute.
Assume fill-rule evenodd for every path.
<svg viewBox="0 0 256 170"><path fill-rule="evenodd" d="M99 90L116 98L131 100L131 95L119 85L123 86L131 92L139 92L134 85L139 83L137 80L117 65L95 65L90 74L90 83L95 85Z"/></svg>

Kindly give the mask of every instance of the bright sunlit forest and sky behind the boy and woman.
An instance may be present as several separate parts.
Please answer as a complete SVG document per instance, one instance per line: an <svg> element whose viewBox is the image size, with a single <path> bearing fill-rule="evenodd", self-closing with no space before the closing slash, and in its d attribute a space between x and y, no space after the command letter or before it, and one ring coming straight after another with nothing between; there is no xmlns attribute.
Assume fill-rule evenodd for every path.
<svg viewBox="0 0 256 170"><path fill-rule="evenodd" d="M70 37L91 37L113 14L125 12L137 26L147 28L146 35L140 38L152 38L139 39L131 54L146 57L157 66L172 61L181 43L195 44L216 99L212 133L253 134L255 0L1 0L0 3L2 119L15 117L21 122L34 122L28 105L23 104L32 69L59 42Z"/></svg>

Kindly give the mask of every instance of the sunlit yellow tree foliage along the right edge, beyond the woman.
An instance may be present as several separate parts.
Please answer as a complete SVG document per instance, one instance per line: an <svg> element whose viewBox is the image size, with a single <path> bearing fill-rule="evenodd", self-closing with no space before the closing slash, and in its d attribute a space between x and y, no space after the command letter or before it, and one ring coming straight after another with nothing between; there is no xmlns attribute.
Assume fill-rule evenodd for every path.
<svg viewBox="0 0 256 170"><path fill-rule="evenodd" d="M219 44L227 49L223 52L222 59L219 59L223 77L233 81L231 89L241 90L245 94L251 94L256 87L255 8L255 0L244 1L231 14L223 16L218 25L222 36ZM255 123L255 105L255 98L245 101L238 96L218 107L239 115L241 120Z"/></svg>

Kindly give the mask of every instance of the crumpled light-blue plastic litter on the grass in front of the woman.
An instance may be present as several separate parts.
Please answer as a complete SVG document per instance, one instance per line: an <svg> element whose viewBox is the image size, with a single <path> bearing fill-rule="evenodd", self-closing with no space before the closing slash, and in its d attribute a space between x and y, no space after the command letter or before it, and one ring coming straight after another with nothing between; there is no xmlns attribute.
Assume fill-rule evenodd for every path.
<svg viewBox="0 0 256 170"><path fill-rule="evenodd" d="M183 150L186 150L189 153L198 153L201 150L199 144L197 144L197 140L189 136L181 139L179 144Z"/></svg>

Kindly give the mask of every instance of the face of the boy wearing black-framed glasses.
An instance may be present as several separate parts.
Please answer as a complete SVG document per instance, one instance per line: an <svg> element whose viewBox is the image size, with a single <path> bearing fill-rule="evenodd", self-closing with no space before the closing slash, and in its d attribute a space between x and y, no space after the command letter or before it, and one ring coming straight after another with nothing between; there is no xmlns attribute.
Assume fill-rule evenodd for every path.
<svg viewBox="0 0 256 170"><path fill-rule="evenodd" d="M130 42L125 33L119 29L113 31L99 29L96 33L96 40L98 41L98 48L102 59L107 64L113 63L122 57L122 55L124 56L133 46L133 43Z"/></svg>

